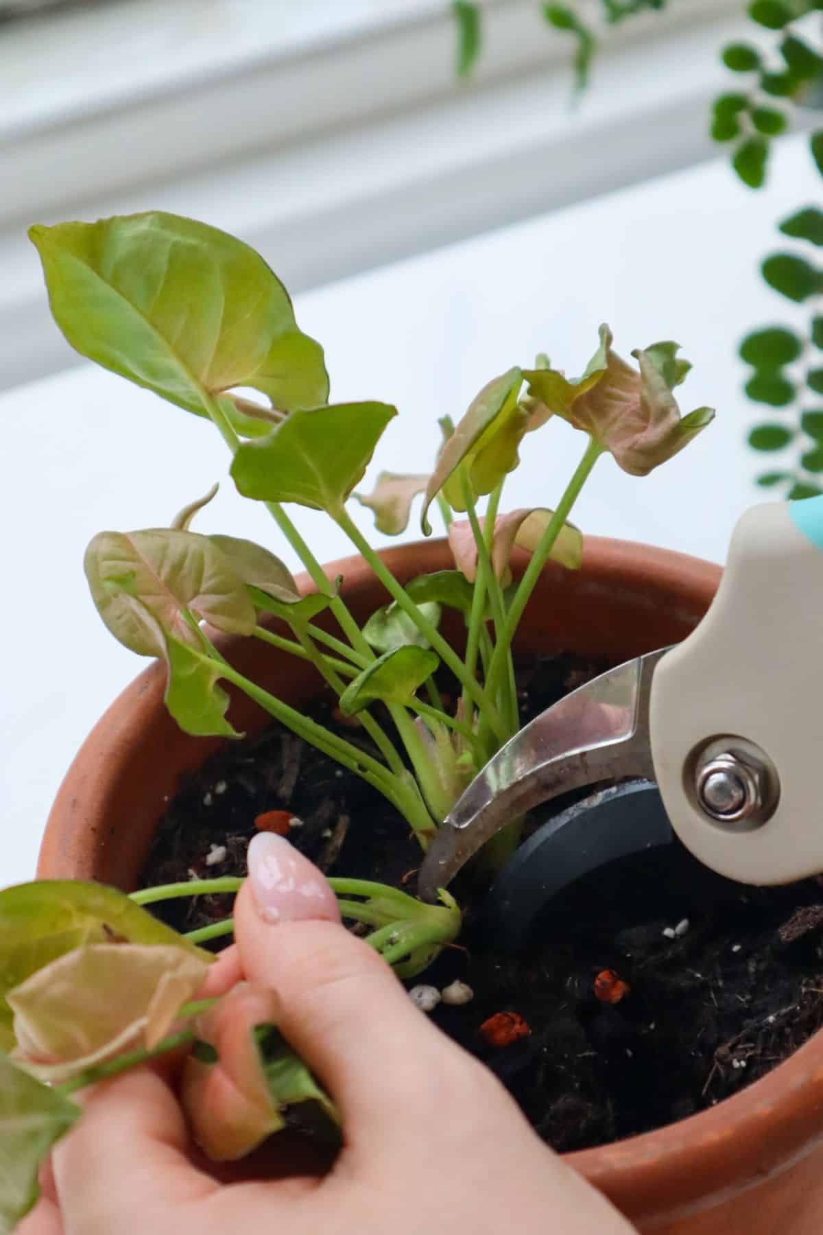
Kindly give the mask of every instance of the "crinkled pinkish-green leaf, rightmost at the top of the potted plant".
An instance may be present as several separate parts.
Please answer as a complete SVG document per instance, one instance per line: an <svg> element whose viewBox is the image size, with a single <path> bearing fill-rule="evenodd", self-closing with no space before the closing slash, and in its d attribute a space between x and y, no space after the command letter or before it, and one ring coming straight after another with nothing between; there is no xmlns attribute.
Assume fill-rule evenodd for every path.
<svg viewBox="0 0 823 1235"><path fill-rule="evenodd" d="M612 351L612 332L600 327L600 348L579 382L559 369L532 369L532 421L538 427L549 415L581 429L631 475L648 475L686 446L714 417L711 408L680 415L672 395L691 366L677 358L672 342L653 343L632 352L639 371Z"/></svg>

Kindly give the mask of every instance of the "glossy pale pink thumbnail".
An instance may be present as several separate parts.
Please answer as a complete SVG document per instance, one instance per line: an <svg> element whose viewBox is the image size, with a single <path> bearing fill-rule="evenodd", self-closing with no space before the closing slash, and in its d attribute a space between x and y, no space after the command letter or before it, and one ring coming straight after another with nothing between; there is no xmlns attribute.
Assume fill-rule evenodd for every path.
<svg viewBox="0 0 823 1235"><path fill-rule="evenodd" d="M252 837L248 874L257 911L264 921L341 921L328 882L285 836L258 832Z"/></svg>

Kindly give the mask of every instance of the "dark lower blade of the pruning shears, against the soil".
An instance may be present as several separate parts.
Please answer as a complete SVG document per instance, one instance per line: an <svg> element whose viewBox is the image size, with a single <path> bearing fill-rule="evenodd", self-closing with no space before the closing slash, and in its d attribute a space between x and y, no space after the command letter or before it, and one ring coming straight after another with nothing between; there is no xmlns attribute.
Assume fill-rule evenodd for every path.
<svg viewBox="0 0 823 1235"><path fill-rule="evenodd" d="M672 840L653 782L628 781L593 793L519 846L497 876L476 929L496 951L517 952L564 888L607 862Z"/></svg>

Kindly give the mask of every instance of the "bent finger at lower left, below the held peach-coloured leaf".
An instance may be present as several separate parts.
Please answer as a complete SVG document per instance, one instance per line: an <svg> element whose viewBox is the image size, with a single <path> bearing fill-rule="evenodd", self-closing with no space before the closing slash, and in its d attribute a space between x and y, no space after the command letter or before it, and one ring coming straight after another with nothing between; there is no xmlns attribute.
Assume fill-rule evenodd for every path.
<svg viewBox="0 0 823 1235"><path fill-rule="evenodd" d="M194 1200L217 1187L189 1162L183 1112L155 1072L127 1072L84 1094L81 1104L83 1118L53 1152L69 1235L130 1230L130 1218L142 1228L148 1207Z"/></svg>

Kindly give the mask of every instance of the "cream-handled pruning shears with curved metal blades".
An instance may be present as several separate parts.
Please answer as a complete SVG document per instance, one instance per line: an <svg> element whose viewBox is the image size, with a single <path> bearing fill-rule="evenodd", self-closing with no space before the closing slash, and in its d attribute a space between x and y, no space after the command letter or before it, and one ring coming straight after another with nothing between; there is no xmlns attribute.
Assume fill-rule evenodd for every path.
<svg viewBox="0 0 823 1235"><path fill-rule="evenodd" d="M821 555L823 496L746 511L695 631L586 683L512 737L439 829L421 895L436 899L508 821L581 788L593 792L521 845L492 887L505 946L581 876L675 836L742 883L823 871Z"/></svg>

